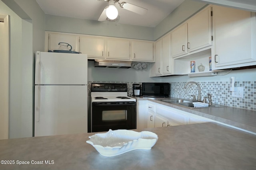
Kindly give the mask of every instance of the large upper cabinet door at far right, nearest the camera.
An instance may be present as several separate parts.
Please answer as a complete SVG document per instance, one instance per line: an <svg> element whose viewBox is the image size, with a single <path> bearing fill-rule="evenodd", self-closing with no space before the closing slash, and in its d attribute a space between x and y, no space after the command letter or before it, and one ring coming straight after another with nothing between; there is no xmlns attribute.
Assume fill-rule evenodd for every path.
<svg viewBox="0 0 256 170"><path fill-rule="evenodd" d="M256 61L255 15L248 11L213 6L214 56L216 69L232 68ZM238 65L235 65L238 64ZM214 68L213 68L214 69Z"/></svg>

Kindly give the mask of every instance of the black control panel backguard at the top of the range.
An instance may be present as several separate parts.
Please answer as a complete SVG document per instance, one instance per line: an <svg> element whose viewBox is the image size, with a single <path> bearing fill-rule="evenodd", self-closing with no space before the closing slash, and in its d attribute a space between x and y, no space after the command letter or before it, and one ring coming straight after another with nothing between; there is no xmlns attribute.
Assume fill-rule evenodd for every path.
<svg viewBox="0 0 256 170"><path fill-rule="evenodd" d="M126 83L92 83L92 92L127 92Z"/></svg>

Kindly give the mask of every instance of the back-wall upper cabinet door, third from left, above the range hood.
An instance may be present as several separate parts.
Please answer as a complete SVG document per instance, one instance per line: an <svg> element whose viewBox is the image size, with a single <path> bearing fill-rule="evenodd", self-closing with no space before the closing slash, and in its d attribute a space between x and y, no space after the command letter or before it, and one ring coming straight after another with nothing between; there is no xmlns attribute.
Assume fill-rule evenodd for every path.
<svg viewBox="0 0 256 170"><path fill-rule="evenodd" d="M107 59L130 59L130 41L107 39Z"/></svg>

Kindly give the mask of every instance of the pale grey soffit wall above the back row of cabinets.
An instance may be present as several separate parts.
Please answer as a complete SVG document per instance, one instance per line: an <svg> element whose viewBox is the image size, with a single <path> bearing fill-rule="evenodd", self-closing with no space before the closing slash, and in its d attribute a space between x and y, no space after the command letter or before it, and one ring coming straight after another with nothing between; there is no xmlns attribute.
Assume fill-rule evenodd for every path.
<svg viewBox="0 0 256 170"><path fill-rule="evenodd" d="M46 15L46 31L154 40L154 28Z"/></svg>

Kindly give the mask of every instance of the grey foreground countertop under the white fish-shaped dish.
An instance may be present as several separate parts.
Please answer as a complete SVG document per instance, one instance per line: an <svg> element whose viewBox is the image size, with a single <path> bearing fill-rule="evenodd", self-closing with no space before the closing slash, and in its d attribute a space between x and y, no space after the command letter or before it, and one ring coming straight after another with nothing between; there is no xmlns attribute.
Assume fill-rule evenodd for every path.
<svg viewBox="0 0 256 170"><path fill-rule="evenodd" d="M159 137L151 150L113 157L101 156L86 143L94 133L0 140L0 160L14 160L0 169L256 170L256 135L251 133L212 122L145 130Z"/></svg>

